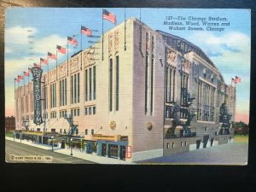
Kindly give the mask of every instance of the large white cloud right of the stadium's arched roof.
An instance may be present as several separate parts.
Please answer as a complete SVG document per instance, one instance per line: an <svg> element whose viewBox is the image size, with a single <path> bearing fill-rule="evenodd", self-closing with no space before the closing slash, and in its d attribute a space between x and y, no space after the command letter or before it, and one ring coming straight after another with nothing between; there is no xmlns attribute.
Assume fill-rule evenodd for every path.
<svg viewBox="0 0 256 192"><path fill-rule="evenodd" d="M218 70L230 79L250 75L251 40L243 32L194 32L189 41L199 46L213 61ZM229 77L228 77L229 76Z"/></svg>

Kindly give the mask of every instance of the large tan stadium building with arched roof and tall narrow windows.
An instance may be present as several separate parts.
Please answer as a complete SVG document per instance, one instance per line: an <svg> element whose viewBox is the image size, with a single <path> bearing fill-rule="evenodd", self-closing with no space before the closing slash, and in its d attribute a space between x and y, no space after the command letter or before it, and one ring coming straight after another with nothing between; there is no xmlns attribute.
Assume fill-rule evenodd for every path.
<svg viewBox="0 0 256 192"><path fill-rule="evenodd" d="M131 162L234 138L235 88L195 44L136 18L44 72L42 81L42 125L33 124L32 82L15 90L16 130L38 142L49 132L67 134L67 114L84 153L94 146L97 155Z"/></svg>

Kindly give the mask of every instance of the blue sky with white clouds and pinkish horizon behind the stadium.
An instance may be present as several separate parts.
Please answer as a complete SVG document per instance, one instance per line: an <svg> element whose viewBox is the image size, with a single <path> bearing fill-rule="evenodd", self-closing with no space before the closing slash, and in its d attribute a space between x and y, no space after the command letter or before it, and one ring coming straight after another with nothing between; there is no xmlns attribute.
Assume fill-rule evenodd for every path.
<svg viewBox="0 0 256 192"><path fill-rule="evenodd" d="M200 47L223 74L226 84L238 76L236 84L236 121L249 120L250 100L250 55L251 55L251 12L249 9L110 9L116 15L117 25L130 17L140 18L154 30L161 30ZM166 16L177 18L221 17L227 18L229 26L224 31L174 31L163 25ZM172 21L172 20L169 20ZM175 20L180 21L180 20ZM102 34L102 9L71 8L9 8L5 22L5 115L14 115L14 79L22 75L47 52L55 54L56 44L67 47L67 36L77 38L78 48L69 46L69 55L79 51L80 27L85 26L93 35ZM104 20L103 31L113 28L113 23ZM218 26L220 27L220 26ZM92 45L88 40L97 38L82 36L82 49ZM67 55L58 55L58 63L67 60ZM49 61L49 69L55 61ZM47 66L43 64L43 70ZM25 84L28 79L25 79ZM24 82L20 82L23 84ZM17 84L16 84L17 85Z"/></svg>

